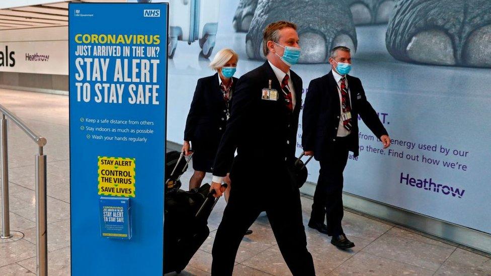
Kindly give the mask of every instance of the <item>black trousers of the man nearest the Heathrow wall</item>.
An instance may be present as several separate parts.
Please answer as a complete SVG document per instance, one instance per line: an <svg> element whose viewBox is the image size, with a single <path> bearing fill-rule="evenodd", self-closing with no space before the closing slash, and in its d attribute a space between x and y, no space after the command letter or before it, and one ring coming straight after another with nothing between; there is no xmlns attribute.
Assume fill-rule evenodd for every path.
<svg viewBox="0 0 491 276"><path fill-rule="evenodd" d="M310 221L324 222L328 225L329 235L344 234L343 219L343 170L348 161L349 137L337 137L329 154L319 160L320 170Z"/></svg>

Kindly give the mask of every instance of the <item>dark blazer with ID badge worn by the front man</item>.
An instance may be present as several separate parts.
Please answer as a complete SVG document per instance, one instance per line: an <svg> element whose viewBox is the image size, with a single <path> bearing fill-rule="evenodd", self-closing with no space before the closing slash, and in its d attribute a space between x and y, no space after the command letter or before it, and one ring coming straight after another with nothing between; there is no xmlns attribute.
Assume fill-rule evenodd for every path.
<svg viewBox="0 0 491 276"><path fill-rule="evenodd" d="M271 174L277 166L295 159L298 117L302 106L302 79L290 70L295 91L295 108L291 112L285 103L280 82L268 61L241 76L235 86L231 117L218 146L213 175L225 176L234 162L234 168L241 167L256 172ZM263 88L278 91L278 100L262 99ZM237 156L234 159L234 152ZM273 173L274 174L274 173Z"/></svg>

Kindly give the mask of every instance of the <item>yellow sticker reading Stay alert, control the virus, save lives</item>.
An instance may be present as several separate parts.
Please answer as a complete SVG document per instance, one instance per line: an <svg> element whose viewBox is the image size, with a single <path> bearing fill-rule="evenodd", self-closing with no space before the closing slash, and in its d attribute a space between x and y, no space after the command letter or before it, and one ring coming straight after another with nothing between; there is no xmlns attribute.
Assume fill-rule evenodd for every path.
<svg viewBox="0 0 491 276"><path fill-rule="evenodd" d="M99 195L135 197L135 158L98 157Z"/></svg>

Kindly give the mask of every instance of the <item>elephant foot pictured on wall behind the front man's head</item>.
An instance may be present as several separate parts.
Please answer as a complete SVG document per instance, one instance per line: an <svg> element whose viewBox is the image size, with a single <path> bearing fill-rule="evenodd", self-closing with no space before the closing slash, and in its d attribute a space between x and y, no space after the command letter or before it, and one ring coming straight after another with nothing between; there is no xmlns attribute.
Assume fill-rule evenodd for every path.
<svg viewBox="0 0 491 276"><path fill-rule="evenodd" d="M339 45L356 51L353 17L341 1L260 0L246 36L249 58L264 59L264 28L275 21L287 20L298 26L302 54L299 63L321 63L331 48Z"/></svg>

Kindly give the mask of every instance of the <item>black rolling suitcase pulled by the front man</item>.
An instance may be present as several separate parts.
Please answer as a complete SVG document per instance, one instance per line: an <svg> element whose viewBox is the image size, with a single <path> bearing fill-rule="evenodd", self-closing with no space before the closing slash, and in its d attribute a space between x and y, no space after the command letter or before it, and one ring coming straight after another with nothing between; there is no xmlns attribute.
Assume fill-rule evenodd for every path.
<svg viewBox="0 0 491 276"><path fill-rule="evenodd" d="M210 234L207 221L218 198L209 190L210 185L205 184L190 192L174 190L166 195L164 274L181 272Z"/></svg>

